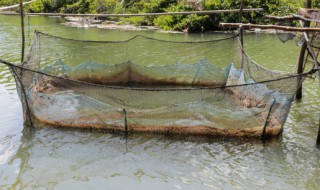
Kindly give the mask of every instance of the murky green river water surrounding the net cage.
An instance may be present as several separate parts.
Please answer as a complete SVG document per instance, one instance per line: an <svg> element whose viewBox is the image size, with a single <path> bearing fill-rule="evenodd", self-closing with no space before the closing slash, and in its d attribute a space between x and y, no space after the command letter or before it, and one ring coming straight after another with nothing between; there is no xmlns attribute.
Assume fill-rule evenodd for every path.
<svg viewBox="0 0 320 190"><path fill-rule="evenodd" d="M19 22L17 16L0 16L0 58L14 63L21 52ZM216 37L71 28L61 22L26 19L27 43L34 29L86 40L126 40L137 34L180 41ZM245 49L269 69L293 72L299 46L252 33L245 35ZM320 87L308 80L283 134L268 142L147 134L126 140L104 132L24 128L14 79L0 65L0 189L319 189L319 117Z"/></svg>

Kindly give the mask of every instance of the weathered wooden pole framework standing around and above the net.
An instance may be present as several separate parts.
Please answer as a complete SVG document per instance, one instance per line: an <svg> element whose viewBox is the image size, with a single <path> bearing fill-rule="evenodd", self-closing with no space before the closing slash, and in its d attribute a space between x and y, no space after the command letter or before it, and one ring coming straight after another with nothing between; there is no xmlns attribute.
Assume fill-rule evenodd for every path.
<svg viewBox="0 0 320 190"><path fill-rule="evenodd" d="M61 13L24 13L23 5L32 3L35 0L31 0L27 3L23 3L23 0L20 0L19 5L13 5L9 8L20 7L20 13L7 13L0 12L0 15L21 15L21 28L22 28L22 55L21 62L24 60L24 49L25 49L25 34L24 34L24 15L40 15L40 16L75 16L75 17L133 17L133 16L161 16L161 15L189 15L189 14L221 14L221 13L239 13L239 23L221 23L223 28L239 28L240 32L240 42L243 46L243 30L244 29L252 29L252 28L260 28L260 29L278 29L283 31L294 31L294 32L303 32L303 36L305 42L303 43L299 58L298 58L298 69L297 73L302 74L304 71L304 62L306 52L310 55L314 61L314 71L318 71L318 79L320 85L320 64L318 62L318 55L320 52L320 47L318 49L318 53L314 52L314 47L312 47L309 40L309 33L320 33L320 28L310 28L310 22L320 23L320 10L311 9L311 0L306 0L306 8L300 8L298 11L298 15L289 15L285 17L276 17L276 16L266 16L266 18L277 20L277 21L288 21L288 20L299 20L301 27L288 27L288 26L279 26L279 25L257 25L257 24L244 24L242 23L242 13L246 11L263 11L261 8L252 8L252 9L244 9L244 0L241 0L241 5L239 9L232 10L212 10L212 11L189 11L189 12L167 12L167 13L144 13L144 14L61 14ZM0 8L1 10L7 10L8 7ZM315 15L319 15L316 17ZM304 23L303 23L304 22ZM297 92L297 99L302 98L302 86ZM320 145L320 125L319 132L317 137L317 145Z"/></svg>

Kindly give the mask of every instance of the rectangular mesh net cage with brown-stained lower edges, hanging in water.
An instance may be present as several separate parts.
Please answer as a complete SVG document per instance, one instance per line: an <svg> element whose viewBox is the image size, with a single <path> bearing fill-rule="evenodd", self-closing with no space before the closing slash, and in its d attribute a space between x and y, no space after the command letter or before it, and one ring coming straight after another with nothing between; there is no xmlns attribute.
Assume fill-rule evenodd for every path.
<svg viewBox="0 0 320 190"><path fill-rule="evenodd" d="M279 135L306 76L258 65L231 34L82 41L36 31L26 60L5 63L27 125L224 137Z"/></svg>

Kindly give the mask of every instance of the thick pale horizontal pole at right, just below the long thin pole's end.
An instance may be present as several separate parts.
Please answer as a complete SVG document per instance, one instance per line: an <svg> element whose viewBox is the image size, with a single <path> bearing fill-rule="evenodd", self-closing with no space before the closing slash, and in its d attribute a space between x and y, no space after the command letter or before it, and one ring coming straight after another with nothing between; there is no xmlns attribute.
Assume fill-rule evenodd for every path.
<svg viewBox="0 0 320 190"><path fill-rule="evenodd" d="M243 28L243 29L276 29L291 32L320 32L320 28L302 28L302 27L290 27L290 26L278 26L278 25L259 25L259 24L244 24L244 23L220 23L223 28Z"/></svg>

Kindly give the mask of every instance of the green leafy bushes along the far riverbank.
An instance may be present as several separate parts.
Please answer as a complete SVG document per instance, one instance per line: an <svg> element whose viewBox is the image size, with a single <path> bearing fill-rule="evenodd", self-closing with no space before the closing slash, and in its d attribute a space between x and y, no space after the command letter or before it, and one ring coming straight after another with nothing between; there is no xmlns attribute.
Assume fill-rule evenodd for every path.
<svg viewBox="0 0 320 190"><path fill-rule="evenodd" d="M10 1L10 3L9 3ZM14 0L17 2L18 0ZM243 22L266 23L264 15L287 15L304 7L306 0L245 0L246 8L263 8L264 12L245 12ZM1 5L13 4L1 0ZM240 0L38 0L27 6L29 12L56 13L150 13L169 11L199 11L238 9ZM320 0L313 0L318 6ZM238 14L168 15L158 17L109 18L133 25L155 25L165 30L216 30L219 22L237 22Z"/></svg>

